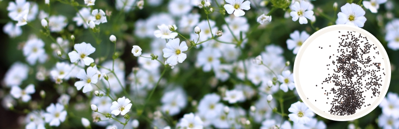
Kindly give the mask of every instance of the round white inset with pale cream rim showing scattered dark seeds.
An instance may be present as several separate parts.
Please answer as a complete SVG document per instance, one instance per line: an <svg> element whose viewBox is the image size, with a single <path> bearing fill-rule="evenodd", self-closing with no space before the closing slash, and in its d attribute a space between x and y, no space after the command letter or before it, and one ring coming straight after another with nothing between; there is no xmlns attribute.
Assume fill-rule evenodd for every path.
<svg viewBox="0 0 399 129"><path fill-rule="evenodd" d="M350 25L325 27L311 35L294 63L302 101L314 113L351 121L373 111L387 94L391 65L382 44Z"/></svg>

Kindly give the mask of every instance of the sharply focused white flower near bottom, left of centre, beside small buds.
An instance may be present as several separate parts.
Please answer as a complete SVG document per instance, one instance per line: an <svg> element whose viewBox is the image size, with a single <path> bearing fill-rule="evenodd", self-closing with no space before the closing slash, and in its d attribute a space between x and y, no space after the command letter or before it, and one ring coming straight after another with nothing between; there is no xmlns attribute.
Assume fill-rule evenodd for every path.
<svg viewBox="0 0 399 129"><path fill-rule="evenodd" d="M111 106L111 114L114 114L115 116L118 116L119 114L125 115L130 111L130 108L132 107L132 104L130 103L129 99L125 99L125 96L122 98L118 99L117 101L112 102Z"/></svg>

